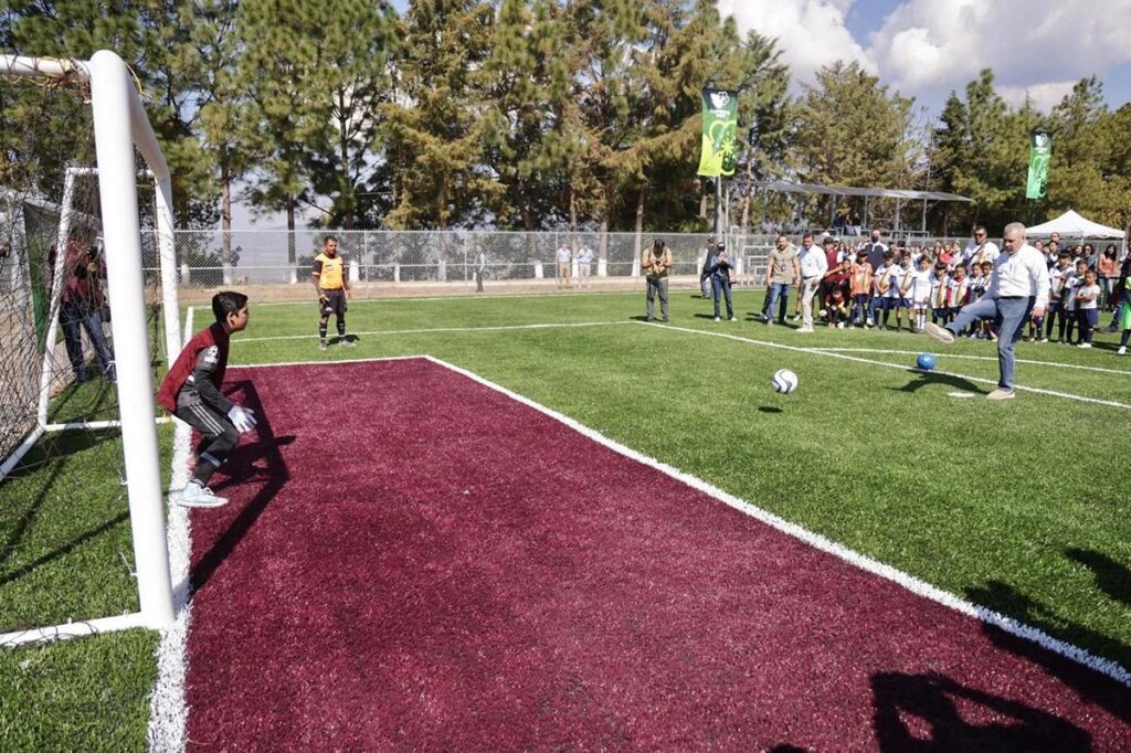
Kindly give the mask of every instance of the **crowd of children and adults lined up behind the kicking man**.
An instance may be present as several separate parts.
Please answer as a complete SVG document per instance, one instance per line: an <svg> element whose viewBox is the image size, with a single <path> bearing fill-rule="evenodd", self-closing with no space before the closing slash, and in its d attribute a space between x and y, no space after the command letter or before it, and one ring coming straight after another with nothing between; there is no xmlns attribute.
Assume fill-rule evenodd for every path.
<svg viewBox="0 0 1131 753"><path fill-rule="evenodd" d="M1089 348L1105 308L1115 312L1112 331L1128 329L1119 320L1125 318L1124 310L1131 305L1116 304L1125 295L1131 257L1120 263L1112 245L1097 259L1095 253L1087 256L1086 245L1062 249L1056 237L1038 242L1035 248L1045 254L1048 266L1050 303L1043 318L1029 322L1027 340ZM818 248L806 233L797 249L780 235L767 268L761 319L772 323L777 308L778 322L784 323L789 288L796 285L794 319L802 319L798 331L812 330L810 301L815 300L818 317L829 328L898 331L906 317L908 331L921 332L929 320L944 326L957 318L962 306L982 300L1000 253L983 226L975 230L974 240L965 249L941 241L933 248L889 249L881 243L879 232L873 232L871 242L855 249L832 236L824 237ZM1131 310L1126 313L1131 315ZM990 320L973 324L964 335L998 339ZM1121 355L1126 353L1126 345L1122 343Z"/></svg>

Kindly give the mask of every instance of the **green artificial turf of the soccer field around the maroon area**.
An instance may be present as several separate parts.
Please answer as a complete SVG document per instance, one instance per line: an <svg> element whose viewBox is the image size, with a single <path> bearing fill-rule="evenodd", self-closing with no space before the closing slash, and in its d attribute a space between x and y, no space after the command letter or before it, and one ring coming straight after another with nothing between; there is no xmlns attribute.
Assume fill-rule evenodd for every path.
<svg viewBox="0 0 1131 753"><path fill-rule="evenodd" d="M642 297L356 301L348 322L357 347L326 353L312 303L252 301L231 364L440 358L841 547L1131 667L1122 449L1131 362L1114 355L1114 336L1099 335L1091 350L1019 344L1018 398L994 404L983 397L998 372L986 343L938 350L906 332L767 328L750 320L761 294L748 291L735 295L733 323L713 322L698 293L674 292L663 327L640 321ZM209 318L198 308L195 328ZM912 369L922 350L936 353L933 373ZM780 367L800 376L792 395L770 388ZM382 387L349 390L364 404ZM328 421L311 410L311 431ZM76 512L44 492L68 474L112 490L116 478L86 467L85 451L0 486L19 511L2 518L0 616L9 624L32 605L44 622L136 607L115 555L130 551L124 501ZM498 460L503 450L487 442L476 451ZM536 473L553 452L532 447L516 461ZM340 464L355 455L349 438L326 453ZM442 468L444 458L433 462ZM18 546L64 526L77 526L66 551ZM86 600L54 596L76 572ZM0 747L144 747L155 644L135 632L3 652Z"/></svg>

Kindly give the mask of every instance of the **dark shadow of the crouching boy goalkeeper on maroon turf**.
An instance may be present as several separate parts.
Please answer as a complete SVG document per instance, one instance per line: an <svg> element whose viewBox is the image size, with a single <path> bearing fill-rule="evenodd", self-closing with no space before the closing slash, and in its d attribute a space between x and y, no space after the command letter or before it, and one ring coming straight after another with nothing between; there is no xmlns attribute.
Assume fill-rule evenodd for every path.
<svg viewBox="0 0 1131 753"><path fill-rule="evenodd" d="M236 447L236 450L228 458L225 468L228 471L227 479L223 483L223 486L216 486L215 488L218 491L226 486L243 482L254 482L257 479L266 479L266 483L256 492L251 501L240 510L240 513L227 527L227 530L216 538L211 548L197 562L190 575L192 592L199 591L208 583L216 569L227 559L227 555L232 553L243 537L248 535L248 531L259 520L259 516L262 514L270 501L275 499L275 495L283 488L283 485L291 479L291 474L283 461L279 447L293 442L294 436L275 436L275 432L271 430L270 417L264 410L259 393L256 392L256 387L250 381L236 382L233 391L243 392L244 398L240 400L240 404L256 412L256 416L259 419L259 423L256 425L258 440L250 444ZM254 460L258 458L266 459L266 467L260 468L254 465Z"/></svg>

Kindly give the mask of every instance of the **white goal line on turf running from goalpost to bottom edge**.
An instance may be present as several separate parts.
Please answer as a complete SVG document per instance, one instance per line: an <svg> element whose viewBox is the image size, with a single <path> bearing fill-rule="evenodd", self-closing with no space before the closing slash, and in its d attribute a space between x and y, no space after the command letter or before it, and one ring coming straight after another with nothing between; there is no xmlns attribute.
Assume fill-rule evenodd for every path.
<svg viewBox="0 0 1131 753"><path fill-rule="evenodd" d="M192 337L192 306L184 318L184 341ZM189 481L189 451L192 429L173 422L171 488L180 488ZM173 609L176 618L164 630L157 644L157 680L149 698L149 724L146 739L150 751L180 753L184 751L184 733L189 709L185 703L185 678L189 670L188 634L192 604L189 600L189 569L192 559L189 511L178 504L169 505L169 565L173 578Z"/></svg>

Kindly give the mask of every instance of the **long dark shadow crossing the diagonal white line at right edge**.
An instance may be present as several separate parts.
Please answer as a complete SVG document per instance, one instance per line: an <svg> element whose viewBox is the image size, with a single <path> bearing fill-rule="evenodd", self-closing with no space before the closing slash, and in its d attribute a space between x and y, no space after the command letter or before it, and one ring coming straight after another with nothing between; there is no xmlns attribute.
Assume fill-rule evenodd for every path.
<svg viewBox="0 0 1131 753"><path fill-rule="evenodd" d="M1087 649L1091 654L1115 661L1123 667L1131 666L1131 647L1090 628L1067 622L1059 615L1050 614L1038 601L1021 594L1009 583L991 580L984 587L966 589L966 596L975 604L995 609L1042 632L1067 640ZM1076 690L1081 698L1102 706L1120 720L1131 724L1131 692L1105 675L1059 654L1041 648L1037 643L983 623L983 632L1001 649L1025 657L1039 665L1050 675Z"/></svg>

